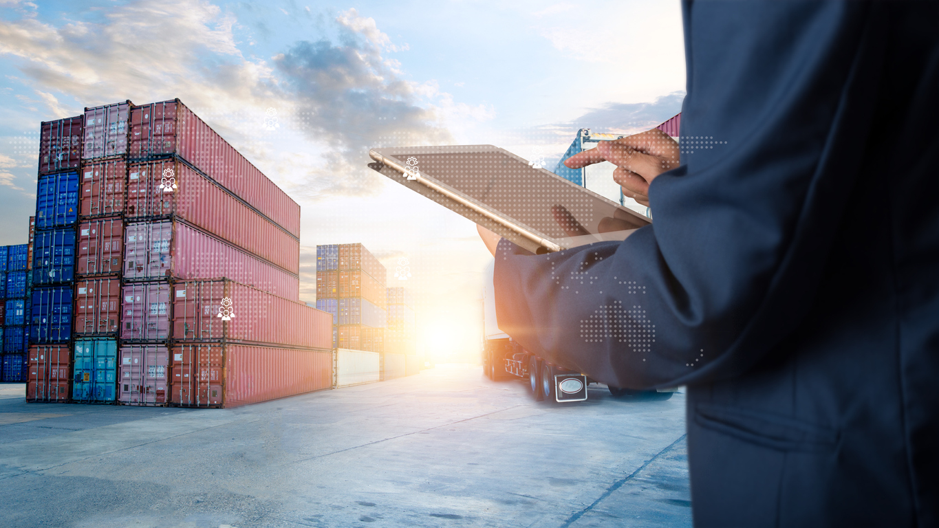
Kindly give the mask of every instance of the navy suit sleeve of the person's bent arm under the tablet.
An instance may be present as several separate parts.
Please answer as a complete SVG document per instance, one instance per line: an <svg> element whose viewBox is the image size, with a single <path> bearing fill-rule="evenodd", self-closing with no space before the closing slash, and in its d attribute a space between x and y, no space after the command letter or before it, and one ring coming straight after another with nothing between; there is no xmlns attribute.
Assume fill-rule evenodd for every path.
<svg viewBox="0 0 939 528"><path fill-rule="evenodd" d="M881 41L867 3L685 2L682 164L654 225L532 255L502 240L500 328L630 388L732 377L800 323L868 136Z"/></svg>

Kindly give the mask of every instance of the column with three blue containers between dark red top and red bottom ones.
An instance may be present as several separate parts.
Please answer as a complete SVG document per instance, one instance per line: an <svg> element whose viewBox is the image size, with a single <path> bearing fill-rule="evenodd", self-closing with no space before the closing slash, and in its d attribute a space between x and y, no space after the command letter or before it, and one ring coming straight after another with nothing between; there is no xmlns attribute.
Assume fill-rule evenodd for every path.
<svg viewBox="0 0 939 528"><path fill-rule="evenodd" d="M39 135L26 400L69 400L79 170L84 115L44 122Z"/></svg>

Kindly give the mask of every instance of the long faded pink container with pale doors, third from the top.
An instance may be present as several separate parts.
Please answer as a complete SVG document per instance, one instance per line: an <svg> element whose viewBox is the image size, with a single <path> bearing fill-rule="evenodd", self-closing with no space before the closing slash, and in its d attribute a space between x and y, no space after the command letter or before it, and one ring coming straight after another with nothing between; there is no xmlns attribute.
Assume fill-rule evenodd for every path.
<svg viewBox="0 0 939 528"><path fill-rule="evenodd" d="M127 224L124 279L170 277L224 277L292 301L300 299L296 275L181 221Z"/></svg>

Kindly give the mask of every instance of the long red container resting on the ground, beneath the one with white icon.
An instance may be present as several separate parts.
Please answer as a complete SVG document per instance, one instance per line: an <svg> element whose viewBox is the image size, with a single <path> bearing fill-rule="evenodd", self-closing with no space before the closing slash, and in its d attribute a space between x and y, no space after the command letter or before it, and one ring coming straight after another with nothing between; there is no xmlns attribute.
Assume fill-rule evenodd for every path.
<svg viewBox="0 0 939 528"><path fill-rule="evenodd" d="M331 388L332 353L246 344L177 344L170 401L238 407Z"/></svg>

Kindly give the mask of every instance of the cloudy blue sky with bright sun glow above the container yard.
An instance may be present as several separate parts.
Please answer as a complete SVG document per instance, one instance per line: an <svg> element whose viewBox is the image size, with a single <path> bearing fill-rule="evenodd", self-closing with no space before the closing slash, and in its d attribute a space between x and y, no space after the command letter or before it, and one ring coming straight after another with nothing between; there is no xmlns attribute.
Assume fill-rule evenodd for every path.
<svg viewBox="0 0 939 528"><path fill-rule="evenodd" d="M578 128L680 112L685 57L677 0L0 0L0 76L0 245L26 241L41 121L179 98L300 204L301 300L317 244L362 242L444 362L479 358L492 257L469 220L368 169L368 149L537 146L553 167Z"/></svg>

